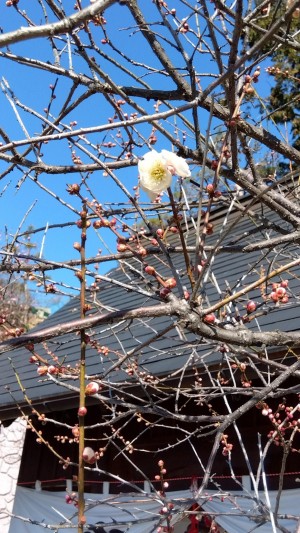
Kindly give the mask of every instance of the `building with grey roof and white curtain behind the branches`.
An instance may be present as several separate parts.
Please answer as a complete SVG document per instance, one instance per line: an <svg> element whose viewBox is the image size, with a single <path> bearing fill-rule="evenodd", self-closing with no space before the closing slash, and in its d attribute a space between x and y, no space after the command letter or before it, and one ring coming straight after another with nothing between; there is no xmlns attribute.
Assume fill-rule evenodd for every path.
<svg viewBox="0 0 300 533"><path fill-rule="evenodd" d="M287 252L284 246L269 247L267 252L265 248L261 250L258 245L255 246L264 239L270 239L272 231L276 233L276 217L272 213L266 215L263 206L257 203L255 209L248 206L246 218L245 206L246 200L241 200L239 209L234 209L229 217L228 210L223 205L213 213L215 231L206 244L213 247L221 236L223 251L214 256L213 270L203 286L205 307L219 301L220 295L230 296L246 284L262 278L270 268L297 257L295 249L289 249ZM232 231L227 233L228 228ZM195 228L187 223L184 229L187 246L192 246ZM283 235L287 234L289 224L287 223L286 227L282 225L281 230ZM180 244L176 233L171 235L169 244L173 263L184 279L184 257L179 248L176 249ZM146 242L145 246L148 245L153 247L151 241ZM243 251L245 246L252 246L252 251ZM211 250L212 248L208 249L207 253ZM170 275L166 259L162 255L151 256L148 262L161 276ZM288 291L291 295L286 304L281 301L273 302L269 296L265 296L270 294L269 283L253 288L238 305L235 305L234 301L228 303L226 316L220 314L218 319L222 331L234 331L239 326L240 317L252 316L246 310L250 298L259 305L257 318L248 323L246 320L244 322L249 331L274 331L274 334L276 330L297 331L300 318L298 274L298 265L284 274L284 280L289 282ZM109 280L112 280L112 283ZM278 274L273 281L280 283L282 280L283 277ZM97 468L91 465L87 471L86 493L87 498L89 493L99 495L98 498L105 500L107 505L93 507L91 504L92 509L87 513L87 517L89 524L104 522L108 530L115 526L125 531L128 522L131 524L128 531L133 533L150 532L160 523L165 527L166 519L160 514L161 502L153 491L151 493L149 484L153 482L157 490L161 489L161 481L155 480L155 476L160 476L158 461L163 460L167 473L163 475L162 482L169 484L170 492L167 492L167 495L174 505L174 511L167 516L174 522L175 533L183 533L189 525L193 526L194 495L205 476L206 465L214 446L215 424L222 423L231 411L242 409L247 395L250 399L255 398L255 391L259 393L262 380L265 387L272 383L276 376L283 372L284 367L280 366L283 357L285 364L287 361L288 364L294 364L297 361L298 349L295 345L290 350L283 350L282 346L272 346L268 350L264 347L261 350L252 350L252 361L255 361L255 356L257 360L256 365L253 363L251 366L243 347L233 346L228 356L224 344L216 341L213 335L211 339L207 339L184 327L180 321L175 324L176 316L149 316L135 320L130 316L122 316L117 321L101 323L101 320L98 320L99 315L94 314L95 308L98 313L100 311L100 314L104 314L161 302L161 299L151 296L151 282L152 278L149 276L146 276L145 281L144 269L138 257L126 257L125 254L120 266L113 269L107 278L103 276L99 282L99 290L93 285L89 292L88 301L92 308L87 317L91 317L94 322L87 331L87 374L91 381L101 381L99 392L102 399L99 401L93 396L88 397L85 423L93 428L87 430L86 435L87 440L96 439L91 441L91 445L99 450L100 457L96 463ZM187 280L184 283L187 284ZM34 340L34 335L38 335L39 331L45 331L47 328L51 333L51 328L59 328L66 322L78 320L79 317L79 300L72 299L43 324L34 328L29 337ZM22 511L28 510L29 494L29 500L35 503L35 508L30 511L31 520L41 520L40 516L36 518L36 502L39 502L38 508L41 510L44 509L42 501L46 501L47 516L51 523L59 523L62 517L71 517L72 513L76 515L76 509L74 511L73 506L67 506L63 497L57 496L54 491L65 491L66 484L69 493L76 491L76 467L72 466L72 463L76 463L77 452L74 440L76 441L78 423L78 391L74 369L79 363L79 351L78 334L66 333L49 337L45 342L34 342L34 352L30 352L26 347L7 352L0 361L0 417L4 427L9 426L21 413L31 413L30 419L37 424L37 431L42 431L42 438L55 448L56 453L64 460L67 457L70 460L70 466L64 469L66 461L60 461L49 446L37 442L40 439L38 434L27 432L14 513L24 516ZM34 359L33 364L30 364L29 359L32 360L32 355L36 357L35 354L40 359ZM47 364L52 362L52 366L63 367L60 375L37 374L37 366L45 365L44 360L47 360ZM239 366L240 361L245 360L248 361L247 370ZM228 393L230 399L224 403L226 386L230 380L230 386L235 387L235 392L231 389L230 394ZM286 391L287 405L291 403L296 406L298 382L299 374L296 370L284 381L282 387L276 389L276 394L270 396L268 408L276 411L279 401L277 396L282 398L283 389ZM179 387L182 393L177 396ZM207 397L208 389L210 399ZM158 398L158 391L159 401L153 409L148 409L147 395L154 394ZM199 502L199 513L196 508L197 518L200 520L197 525L199 531L210 530L208 524L215 514L219 531L223 531L223 527L230 533L249 531L254 527L255 520L262 520L265 512L271 516L272 523L268 501L264 505L259 503L258 494L255 495L253 486L251 487L259 471L257 487L262 490L266 483L270 498L276 499L279 485L284 489L280 499L281 512L291 515L291 519L282 519L280 524L290 530L296 527L295 501L300 495L299 453L289 453L284 458L284 473L280 476L283 448L273 444L265 457L265 470L262 470L256 435L262 435L264 446L273 426L270 418L262 414L263 403L257 405L257 400L255 404L252 409L239 416L236 430L233 426L226 430L227 441L225 438L225 443L220 445L215 456L214 475L210 477L205 493L201 494L201 498L196 498ZM208 417L214 413L214 423L206 423ZM203 425L199 426L201 416L204 417ZM45 418L55 420L56 424L49 421L45 424ZM75 428L73 432L72 428ZM19 442L21 440L20 438ZM233 445L231 463L228 462L227 444ZM295 450L298 445L297 433L293 440ZM142 452L144 449L147 450L146 453ZM227 447L227 451L228 449ZM2 458L4 455L2 452ZM252 479L249 468L252 469ZM146 476L142 475L142 472ZM32 498L34 487L38 490ZM47 493L47 499L43 500L45 491L51 491L51 494ZM55 498L60 498L60 503ZM59 510L61 515L55 521L58 513L50 514L49 507L58 509L59 505L63 505L64 511ZM42 513L45 514L47 522L46 512L43 510ZM238 518L241 514L243 516ZM10 533L31 531L26 529L28 527L26 523L14 519ZM270 527L268 522L259 527L258 531L266 533L270 531ZM41 526L35 528L36 531L44 529Z"/></svg>

